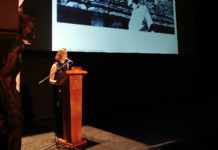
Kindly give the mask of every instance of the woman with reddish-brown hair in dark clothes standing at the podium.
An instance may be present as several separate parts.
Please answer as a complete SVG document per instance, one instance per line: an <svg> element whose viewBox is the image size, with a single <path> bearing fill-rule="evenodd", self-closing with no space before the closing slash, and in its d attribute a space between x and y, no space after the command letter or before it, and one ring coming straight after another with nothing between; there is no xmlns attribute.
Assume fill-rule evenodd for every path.
<svg viewBox="0 0 218 150"><path fill-rule="evenodd" d="M64 77L65 71L69 70L67 59L67 49L61 48L57 51L55 62L50 70L49 82L54 86L54 113L55 113L55 134L56 137L63 137L62 125L62 85L59 81Z"/></svg>

